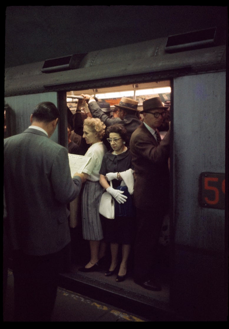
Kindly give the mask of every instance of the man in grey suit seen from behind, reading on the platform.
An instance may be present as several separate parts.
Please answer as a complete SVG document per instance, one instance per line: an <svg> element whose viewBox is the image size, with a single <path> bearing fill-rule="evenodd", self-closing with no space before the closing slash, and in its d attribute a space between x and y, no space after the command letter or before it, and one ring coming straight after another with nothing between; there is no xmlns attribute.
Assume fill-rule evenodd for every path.
<svg viewBox="0 0 229 329"><path fill-rule="evenodd" d="M68 258L66 204L84 178L71 178L67 149L49 139L58 119L56 106L42 102L31 126L4 140L4 229L13 258L15 321L50 321L58 273Z"/></svg>

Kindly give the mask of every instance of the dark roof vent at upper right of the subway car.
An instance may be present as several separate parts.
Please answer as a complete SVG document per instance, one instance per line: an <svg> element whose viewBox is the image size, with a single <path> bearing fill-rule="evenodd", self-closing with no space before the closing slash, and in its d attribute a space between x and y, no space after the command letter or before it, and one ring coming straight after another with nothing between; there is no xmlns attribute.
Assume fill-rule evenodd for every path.
<svg viewBox="0 0 229 329"><path fill-rule="evenodd" d="M165 52L173 53L215 45L216 27L168 37Z"/></svg>

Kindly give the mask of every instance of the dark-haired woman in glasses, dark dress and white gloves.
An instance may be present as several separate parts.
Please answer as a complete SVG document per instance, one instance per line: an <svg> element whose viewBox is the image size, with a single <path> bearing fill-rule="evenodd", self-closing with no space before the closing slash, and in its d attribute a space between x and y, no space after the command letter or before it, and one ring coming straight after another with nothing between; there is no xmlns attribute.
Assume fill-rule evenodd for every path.
<svg viewBox="0 0 229 329"><path fill-rule="evenodd" d="M122 259L118 267L117 282L124 281L127 262L134 235L134 176L129 148L126 147L127 132L123 125L116 124L107 128L107 138L111 150L104 157L100 168L100 184L115 199L115 218L101 215L104 240L110 243L111 264L106 276L112 276L119 265L118 251L122 246ZM110 186L112 181L112 187Z"/></svg>

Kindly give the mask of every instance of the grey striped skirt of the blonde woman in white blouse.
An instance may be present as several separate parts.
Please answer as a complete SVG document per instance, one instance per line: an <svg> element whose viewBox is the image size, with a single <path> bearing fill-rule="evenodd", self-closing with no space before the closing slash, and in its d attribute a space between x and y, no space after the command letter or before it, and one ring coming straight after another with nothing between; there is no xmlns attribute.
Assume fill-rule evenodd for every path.
<svg viewBox="0 0 229 329"><path fill-rule="evenodd" d="M99 200L103 187L99 181L86 180L82 194L82 226L85 240L102 240L103 230L99 215Z"/></svg>

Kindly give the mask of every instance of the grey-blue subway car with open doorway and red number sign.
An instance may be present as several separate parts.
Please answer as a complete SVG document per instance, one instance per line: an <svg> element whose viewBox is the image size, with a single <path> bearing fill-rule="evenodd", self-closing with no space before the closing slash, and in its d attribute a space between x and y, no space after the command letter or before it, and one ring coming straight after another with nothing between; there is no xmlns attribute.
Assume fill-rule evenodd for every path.
<svg viewBox="0 0 229 329"><path fill-rule="evenodd" d="M132 257L121 283L105 271L78 272L89 258L81 218L70 227L72 264L60 286L152 321L227 320L228 53L218 40L210 28L6 68L5 137L23 132L42 101L59 108L51 138L65 147L68 108L74 113L82 93L111 105L125 95L140 107L155 93L171 102L170 210L158 261L162 291L134 284Z"/></svg>

